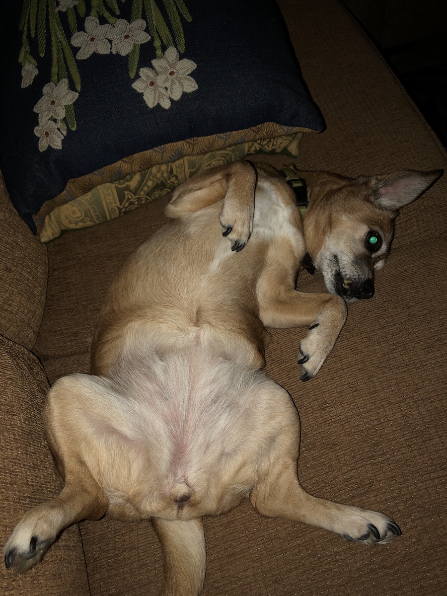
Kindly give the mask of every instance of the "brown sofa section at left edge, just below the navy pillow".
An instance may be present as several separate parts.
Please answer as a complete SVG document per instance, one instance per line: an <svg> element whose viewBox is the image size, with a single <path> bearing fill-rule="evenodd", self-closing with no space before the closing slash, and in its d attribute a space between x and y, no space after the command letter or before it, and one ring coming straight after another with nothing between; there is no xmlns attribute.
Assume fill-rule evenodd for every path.
<svg viewBox="0 0 447 596"><path fill-rule="evenodd" d="M18 217L0 175L0 333L32 348L44 314L46 248Z"/></svg>

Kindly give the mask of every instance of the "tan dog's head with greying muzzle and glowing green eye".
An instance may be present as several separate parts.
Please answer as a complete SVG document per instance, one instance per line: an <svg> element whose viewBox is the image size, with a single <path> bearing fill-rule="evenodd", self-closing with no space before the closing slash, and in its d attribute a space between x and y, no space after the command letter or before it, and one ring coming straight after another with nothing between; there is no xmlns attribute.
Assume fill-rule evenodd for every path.
<svg viewBox="0 0 447 596"><path fill-rule="evenodd" d="M327 289L347 302L374 296L374 271L390 252L394 221L439 178L435 172L396 172L344 178L300 172L308 185L306 247Z"/></svg>

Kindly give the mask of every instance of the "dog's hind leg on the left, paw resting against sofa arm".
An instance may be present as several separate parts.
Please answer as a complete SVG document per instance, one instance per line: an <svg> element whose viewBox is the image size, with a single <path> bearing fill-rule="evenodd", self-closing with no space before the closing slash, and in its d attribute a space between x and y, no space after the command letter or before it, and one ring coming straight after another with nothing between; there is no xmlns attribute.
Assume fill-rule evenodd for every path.
<svg viewBox="0 0 447 596"><path fill-rule="evenodd" d="M38 563L58 534L73 523L104 516L108 499L77 453L76 429L70 421L70 406L84 389L76 377L65 377L51 388L45 405L46 434L64 477L64 488L51 501L24 514L4 547L5 565L25 572ZM71 408L73 409L73 407Z"/></svg>

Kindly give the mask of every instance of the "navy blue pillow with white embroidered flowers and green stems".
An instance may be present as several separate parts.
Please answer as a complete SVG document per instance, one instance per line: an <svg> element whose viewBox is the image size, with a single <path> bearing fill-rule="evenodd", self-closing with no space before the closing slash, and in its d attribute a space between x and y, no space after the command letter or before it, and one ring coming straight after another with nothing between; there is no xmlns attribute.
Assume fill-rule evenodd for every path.
<svg viewBox="0 0 447 596"><path fill-rule="evenodd" d="M264 122L324 126L269 0L26 0L4 17L1 168L33 231L69 179L123 157Z"/></svg>

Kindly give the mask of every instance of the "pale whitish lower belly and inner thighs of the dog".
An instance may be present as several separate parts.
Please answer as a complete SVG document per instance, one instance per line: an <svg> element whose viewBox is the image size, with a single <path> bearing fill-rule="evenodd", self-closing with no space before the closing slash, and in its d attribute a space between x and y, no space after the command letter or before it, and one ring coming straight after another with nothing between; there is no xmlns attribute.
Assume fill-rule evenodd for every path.
<svg viewBox="0 0 447 596"><path fill-rule="evenodd" d="M265 391L273 381L197 346L151 354L150 364L111 379L113 406L94 432L107 433L105 457L119 464L89 463L110 514L191 519L251 491L277 436Z"/></svg>

